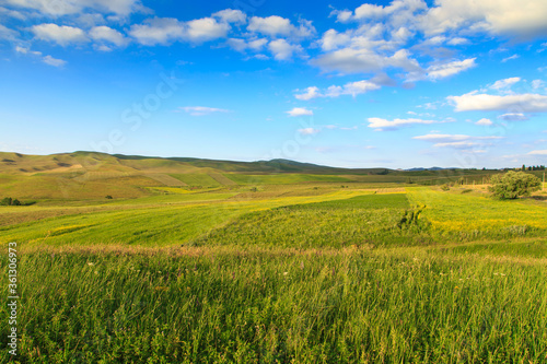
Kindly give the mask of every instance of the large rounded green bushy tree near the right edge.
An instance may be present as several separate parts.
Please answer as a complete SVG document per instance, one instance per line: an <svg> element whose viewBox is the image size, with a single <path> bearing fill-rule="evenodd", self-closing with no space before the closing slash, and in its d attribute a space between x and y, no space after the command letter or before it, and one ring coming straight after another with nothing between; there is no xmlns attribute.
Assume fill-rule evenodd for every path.
<svg viewBox="0 0 547 364"><path fill-rule="evenodd" d="M493 175L490 178L492 186L489 190L500 199L516 199L529 196L540 189L542 180L524 172L509 171L505 174Z"/></svg>

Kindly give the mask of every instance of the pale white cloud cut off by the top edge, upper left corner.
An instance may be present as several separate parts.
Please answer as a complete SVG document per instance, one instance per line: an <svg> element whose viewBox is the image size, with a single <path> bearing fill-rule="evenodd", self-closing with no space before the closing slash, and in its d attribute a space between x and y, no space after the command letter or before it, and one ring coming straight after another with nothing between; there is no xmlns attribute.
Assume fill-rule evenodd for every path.
<svg viewBox="0 0 547 364"><path fill-rule="evenodd" d="M124 16L147 10L139 0L5 0L5 2L55 16L84 13L88 9Z"/></svg>

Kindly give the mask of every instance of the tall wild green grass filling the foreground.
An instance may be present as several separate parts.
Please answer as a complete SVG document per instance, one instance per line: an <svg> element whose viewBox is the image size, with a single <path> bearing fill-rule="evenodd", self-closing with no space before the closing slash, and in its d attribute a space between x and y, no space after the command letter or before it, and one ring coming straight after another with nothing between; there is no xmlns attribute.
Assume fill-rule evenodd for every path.
<svg viewBox="0 0 547 364"><path fill-rule="evenodd" d="M20 314L19 359L27 363L542 363L547 355L545 261L419 249L44 250L24 255L20 272L21 304L33 307ZM5 305L0 310L7 315ZM2 320L2 338L7 330Z"/></svg>

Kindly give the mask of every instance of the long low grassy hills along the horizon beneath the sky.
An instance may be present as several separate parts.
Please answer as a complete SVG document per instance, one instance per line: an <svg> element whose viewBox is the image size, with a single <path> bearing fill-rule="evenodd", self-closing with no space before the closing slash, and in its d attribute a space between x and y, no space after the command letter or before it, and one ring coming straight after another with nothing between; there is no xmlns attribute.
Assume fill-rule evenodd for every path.
<svg viewBox="0 0 547 364"><path fill-rule="evenodd" d="M232 188L279 184L440 184L491 171L337 168L289 160L234 162L190 157L73 152L25 155L0 152L0 197L24 199L138 198L156 187Z"/></svg>

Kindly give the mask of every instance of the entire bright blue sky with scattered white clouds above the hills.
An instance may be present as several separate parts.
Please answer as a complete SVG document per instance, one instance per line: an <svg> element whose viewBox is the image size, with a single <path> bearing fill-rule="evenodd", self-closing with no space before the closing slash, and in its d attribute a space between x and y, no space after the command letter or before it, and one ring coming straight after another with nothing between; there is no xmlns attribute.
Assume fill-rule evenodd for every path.
<svg viewBox="0 0 547 364"><path fill-rule="evenodd" d="M545 0L0 0L0 151L547 164Z"/></svg>

